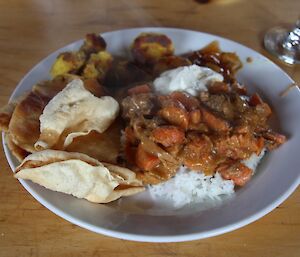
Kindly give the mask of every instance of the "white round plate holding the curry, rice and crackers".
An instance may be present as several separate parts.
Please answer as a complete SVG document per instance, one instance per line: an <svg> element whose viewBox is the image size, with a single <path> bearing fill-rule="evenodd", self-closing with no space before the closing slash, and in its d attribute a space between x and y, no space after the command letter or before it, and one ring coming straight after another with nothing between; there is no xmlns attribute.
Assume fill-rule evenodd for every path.
<svg viewBox="0 0 300 257"><path fill-rule="evenodd" d="M238 43L218 36L171 28L138 28L104 33L108 51L113 55L127 55L128 46L141 32L160 32L174 42L176 53L197 50L213 40L220 42L223 51L236 52L244 66L238 80L250 91L259 92L276 113L274 124L288 135L289 140L276 151L268 154L253 179L233 200L220 207L197 211L197 206L174 212L143 204L147 193L127 198L117 203L100 205L56 193L29 181L20 182L27 191L45 207L60 217L91 231L104 235L148 242L176 242L201 239L232 231L253 222L282 203L298 186L300 176L300 92L291 90L279 97L293 80L278 66L259 53ZM19 83L11 96L14 99L29 90L35 83L49 78L49 69L58 53L76 50L82 44L77 41L59 49L36 65ZM247 63L247 57L252 58ZM18 162L7 146L4 151L10 167Z"/></svg>

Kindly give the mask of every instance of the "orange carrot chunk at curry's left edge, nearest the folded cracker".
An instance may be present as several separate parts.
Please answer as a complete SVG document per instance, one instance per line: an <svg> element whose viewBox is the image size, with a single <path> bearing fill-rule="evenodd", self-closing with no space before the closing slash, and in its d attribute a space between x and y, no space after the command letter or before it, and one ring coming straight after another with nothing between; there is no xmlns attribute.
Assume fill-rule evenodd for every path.
<svg viewBox="0 0 300 257"><path fill-rule="evenodd" d="M142 170L150 171L159 164L160 160L155 155L152 155L144 150L139 144L135 154L135 164Z"/></svg>

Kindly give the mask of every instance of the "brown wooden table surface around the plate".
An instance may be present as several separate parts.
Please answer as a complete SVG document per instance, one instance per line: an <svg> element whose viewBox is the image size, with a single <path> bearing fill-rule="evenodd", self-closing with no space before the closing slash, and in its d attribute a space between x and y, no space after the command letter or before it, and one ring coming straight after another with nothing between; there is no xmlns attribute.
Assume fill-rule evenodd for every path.
<svg viewBox="0 0 300 257"><path fill-rule="evenodd" d="M200 2L200 1L198 1ZM0 106L42 58L88 32L167 26L199 30L240 42L270 57L264 32L292 23L299 0L0 1ZM277 62L300 82L300 67ZM214 238L185 243L113 239L59 218L12 177L0 153L0 256L300 256L300 190L262 219Z"/></svg>

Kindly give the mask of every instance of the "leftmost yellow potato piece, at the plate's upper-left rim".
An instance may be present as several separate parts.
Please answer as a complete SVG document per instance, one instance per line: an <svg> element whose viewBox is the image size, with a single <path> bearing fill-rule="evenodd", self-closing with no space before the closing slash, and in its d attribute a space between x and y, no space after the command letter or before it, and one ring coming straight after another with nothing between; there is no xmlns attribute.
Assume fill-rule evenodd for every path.
<svg viewBox="0 0 300 257"><path fill-rule="evenodd" d="M56 61L51 67L50 74L53 78L67 73L75 74L85 62L83 52L65 52L57 56Z"/></svg>

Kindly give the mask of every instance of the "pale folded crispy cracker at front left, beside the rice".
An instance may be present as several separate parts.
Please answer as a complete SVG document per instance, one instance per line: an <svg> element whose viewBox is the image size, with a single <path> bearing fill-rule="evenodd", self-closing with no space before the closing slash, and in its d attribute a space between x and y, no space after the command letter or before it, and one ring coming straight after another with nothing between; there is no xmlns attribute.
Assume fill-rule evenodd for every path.
<svg viewBox="0 0 300 257"><path fill-rule="evenodd" d="M16 178L95 203L107 203L144 191L135 173L80 153L44 150L27 156Z"/></svg>

